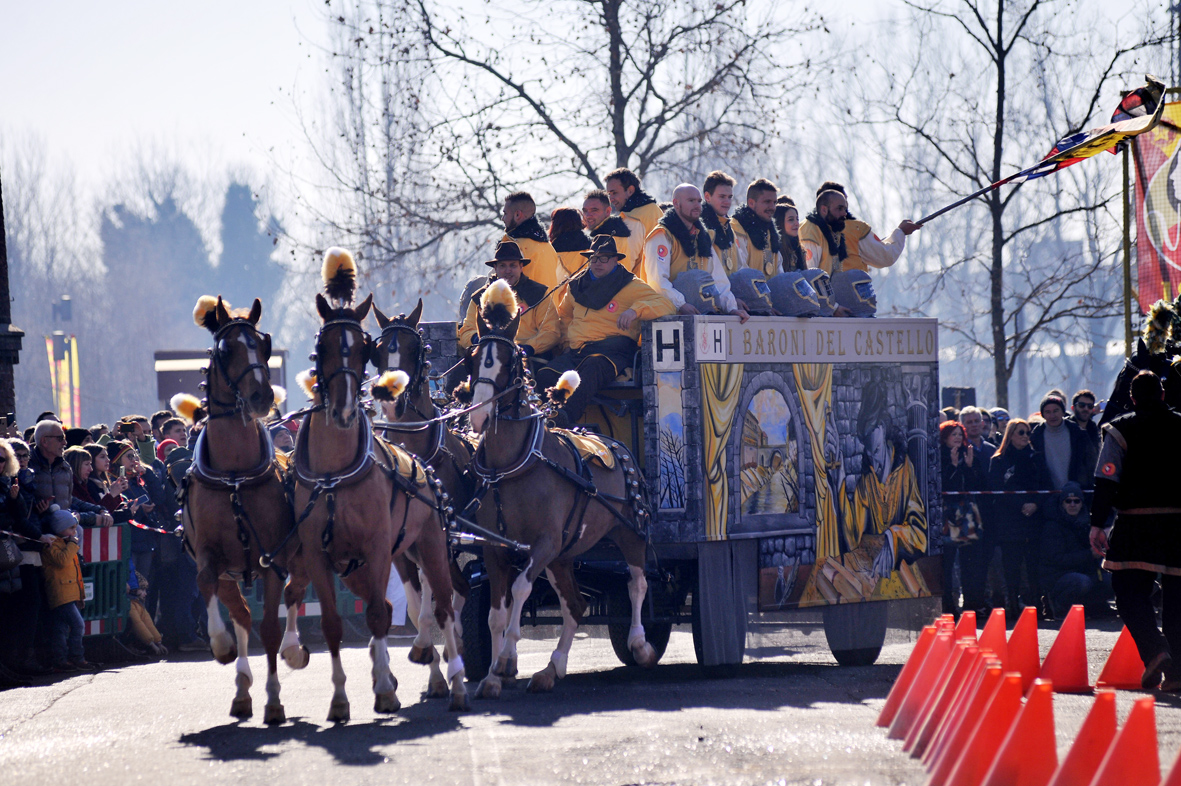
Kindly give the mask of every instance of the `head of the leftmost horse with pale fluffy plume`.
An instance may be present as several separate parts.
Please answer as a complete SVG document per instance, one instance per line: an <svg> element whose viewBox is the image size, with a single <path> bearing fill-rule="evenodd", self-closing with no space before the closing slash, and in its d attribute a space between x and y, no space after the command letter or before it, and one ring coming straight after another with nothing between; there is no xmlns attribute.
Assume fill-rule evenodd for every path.
<svg viewBox="0 0 1181 786"><path fill-rule="evenodd" d="M202 295L194 321L214 336L205 374L210 417L242 413L265 418L275 402L270 387L270 334L259 332L262 302L234 312L221 296Z"/></svg>

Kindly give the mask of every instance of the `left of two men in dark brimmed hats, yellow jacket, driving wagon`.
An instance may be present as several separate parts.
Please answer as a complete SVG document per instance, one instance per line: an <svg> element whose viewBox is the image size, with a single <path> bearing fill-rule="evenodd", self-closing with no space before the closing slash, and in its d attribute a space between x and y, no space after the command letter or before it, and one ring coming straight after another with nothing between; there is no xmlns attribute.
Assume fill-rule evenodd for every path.
<svg viewBox="0 0 1181 786"><path fill-rule="evenodd" d="M557 346L557 340L561 338L557 312L554 308L553 296L546 297L546 287L524 274L529 260L521 254L521 247L513 241L502 241L496 247L496 258L484 264L492 268L494 273L488 277L488 284L477 289L471 296L468 314L459 328L459 348L466 349L475 342L479 297L492 281L501 280L513 287L517 300L526 306L526 310L521 314L521 325L517 327L516 342L530 358L550 358L550 351Z"/></svg>

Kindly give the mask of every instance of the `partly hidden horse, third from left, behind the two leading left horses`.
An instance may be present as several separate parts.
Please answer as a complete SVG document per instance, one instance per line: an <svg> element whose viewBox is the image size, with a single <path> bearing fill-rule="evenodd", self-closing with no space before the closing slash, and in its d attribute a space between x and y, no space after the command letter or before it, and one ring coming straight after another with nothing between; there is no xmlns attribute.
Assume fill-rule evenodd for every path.
<svg viewBox="0 0 1181 786"><path fill-rule="evenodd" d="M384 439L405 447L423 463L430 465L435 470L435 477L443 483L443 489L449 497L448 504L462 509L471 499L471 482L464 473L471 460L471 448L444 423L436 420L441 413L431 400L430 382L426 376L431 367L430 361L426 360L430 346L424 341L418 328L418 320L423 314L423 301L418 300L418 306L409 316L399 314L397 317L390 319L376 306L373 313L377 316L378 327L381 328L381 334L373 348L373 365L378 373L403 371L409 380L402 395L393 401L380 401L381 410L390 423L378 425L377 428ZM374 399L380 399L380 388L374 387ZM451 584L455 588L451 604L455 609L456 635L462 637L463 627L459 617L469 587L455 559L450 562L450 566ZM394 568L403 579L402 583L406 590L406 605L418 628L418 635L410 649L410 660L415 663L429 663L431 667L426 695L429 697L445 696L448 694L446 680L439 668L438 651L431 641L431 587L429 583L422 582L417 565L409 557L396 558Z"/></svg>

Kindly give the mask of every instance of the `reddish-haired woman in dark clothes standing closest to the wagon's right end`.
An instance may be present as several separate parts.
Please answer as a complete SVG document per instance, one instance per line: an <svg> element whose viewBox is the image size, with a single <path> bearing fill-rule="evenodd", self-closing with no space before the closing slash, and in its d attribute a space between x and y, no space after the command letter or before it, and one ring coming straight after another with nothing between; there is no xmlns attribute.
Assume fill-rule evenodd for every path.
<svg viewBox="0 0 1181 786"><path fill-rule="evenodd" d="M944 493L985 490L985 480L977 471L977 463L986 463L987 458L977 456L967 441L967 432L963 425L955 420L939 425L939 450ZM960 563L964 608L983 609L985 605L979 507L971 497L947 497L944 499L944 613L959 617L960 607L953 587L957 558Z"/></svg>

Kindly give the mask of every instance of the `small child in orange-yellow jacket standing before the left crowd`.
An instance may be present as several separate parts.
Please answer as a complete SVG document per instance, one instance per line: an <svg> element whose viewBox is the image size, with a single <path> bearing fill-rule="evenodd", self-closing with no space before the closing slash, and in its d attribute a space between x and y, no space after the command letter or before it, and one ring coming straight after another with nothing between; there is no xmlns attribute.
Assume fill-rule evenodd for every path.
<svg viewBox="0 0 1181 786"><path fill-rule="evenodd" d="M93 672L81 648L86 603L78 561L78 524L65 518L51 519L57 536L41 552L45 571L45 602L50 608L50 657L54 672Z"/></svg>

